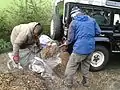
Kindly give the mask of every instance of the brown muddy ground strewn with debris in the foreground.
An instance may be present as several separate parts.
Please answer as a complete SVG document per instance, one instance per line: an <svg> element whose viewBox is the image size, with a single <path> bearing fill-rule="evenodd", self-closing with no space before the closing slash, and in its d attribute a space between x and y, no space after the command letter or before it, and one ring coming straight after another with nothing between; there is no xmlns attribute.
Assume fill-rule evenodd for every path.
<svg viewBox="0 0 120 90"><path fill-rule="evenodd" d="M120 56L113 56L105 70L92 72L90 87L85 88L78 82L81 73L76 75L75 86L72 90L120 90ZM54 80L42 78L39 74L29 71L9 71L6 53L0 55L0 90L66 90L62 84L63 71L57 71Z"/></svg>

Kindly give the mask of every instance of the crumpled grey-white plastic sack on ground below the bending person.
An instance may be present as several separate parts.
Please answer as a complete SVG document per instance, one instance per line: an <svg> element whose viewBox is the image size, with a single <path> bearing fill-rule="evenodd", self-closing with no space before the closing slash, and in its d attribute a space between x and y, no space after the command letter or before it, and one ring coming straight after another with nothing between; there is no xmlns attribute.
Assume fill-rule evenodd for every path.
<svg viewBox="0 0 120 90"><path fill-rule="evenodd" d="M12 65L9 65L9 61L7 62L7 66L10 70L14 68L22 67L22 69L28 69L30 71L39 73L42 77L50 77L53 78L53 68L55 68L59 63L61 63L61 59L59 57L51 57L48 59L41 59L40 57L36 56L33 53L30 53L29 49L21 50L20 52L20 63L15 64L12 58L9 61L12 61ZM10 53L9 53L10 54ZM8 55L9 55L8 54ZM12 55L12 52L11 52ZM11 57L11 56L9 56ZM13 67L13 68L11 68Z"/></svg>

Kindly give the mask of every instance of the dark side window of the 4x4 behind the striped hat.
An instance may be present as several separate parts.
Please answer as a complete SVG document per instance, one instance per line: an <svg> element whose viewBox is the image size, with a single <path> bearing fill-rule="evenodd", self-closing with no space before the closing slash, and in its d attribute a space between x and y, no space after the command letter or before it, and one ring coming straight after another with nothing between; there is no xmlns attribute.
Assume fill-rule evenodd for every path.
<svg viewBox="0 0 120 90"><path fill-rule="evenodd" d="M112 25L113 21L112 21L112 9L111 8L74 3L70 5L70 11L72 7L74 6L79 7L85 14L93 17L101 27Z"/></svg>

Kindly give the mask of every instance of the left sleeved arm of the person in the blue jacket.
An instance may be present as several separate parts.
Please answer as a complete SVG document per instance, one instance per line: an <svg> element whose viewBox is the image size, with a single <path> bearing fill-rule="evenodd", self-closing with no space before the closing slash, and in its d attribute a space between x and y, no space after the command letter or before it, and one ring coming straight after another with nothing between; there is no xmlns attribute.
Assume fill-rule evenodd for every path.
<svg viewBox="0 0 120 90"><path fill-rule="evenodd" d="M72 21L69 25L68 29L68 38L67 38L67 45L71 44L74 41L74 29L75 29L75 21Z"/></svg>

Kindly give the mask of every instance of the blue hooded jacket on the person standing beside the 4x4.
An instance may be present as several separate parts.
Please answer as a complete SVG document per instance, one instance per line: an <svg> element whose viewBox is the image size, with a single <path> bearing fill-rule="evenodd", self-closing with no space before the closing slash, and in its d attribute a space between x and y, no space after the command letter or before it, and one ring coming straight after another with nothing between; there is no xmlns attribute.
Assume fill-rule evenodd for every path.
<svg viewBox="0 0 120 90"><path fill-rule="evenodd" d="M95 50L96 35L101 29L96 21L87 15L75 16L68 30L68 44L74 43L73 53L90 54Z"/></svg>

